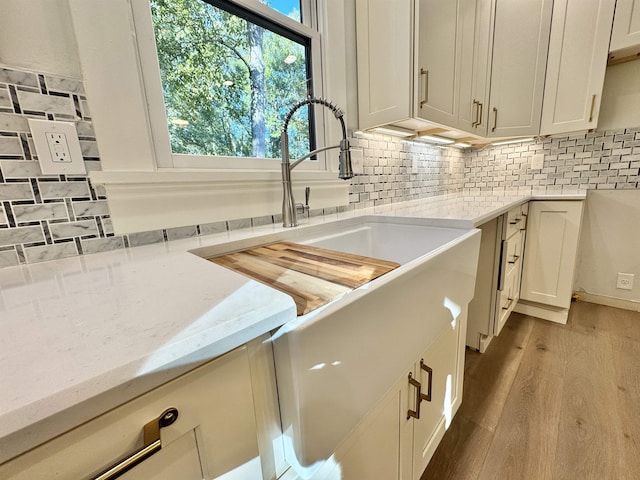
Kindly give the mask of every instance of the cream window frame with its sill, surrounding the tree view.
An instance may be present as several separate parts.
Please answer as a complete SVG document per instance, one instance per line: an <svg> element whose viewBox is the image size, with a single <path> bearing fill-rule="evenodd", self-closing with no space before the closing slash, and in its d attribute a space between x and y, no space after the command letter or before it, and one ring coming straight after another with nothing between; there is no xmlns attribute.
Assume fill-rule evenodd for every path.
<svg viewBox="0 0 640 480"><path fill-rule="evenodd" d="M253 0L233 1L255 5ZM346 108L345 3L315 2L317 12L302 12L303 18L316 15L313 21L320 32L320 55L314 59L314 63L320 62L315 94L324 94ZM270 169L167 166L171 165L167 162L167 152L171 151L168 128L164 125L167 137L164 142L159 141L157 129L152 128L159 107L148 100L154 86L143 73L144 63L149 61L144 45L155 43L155 36L150 9L150 29L145 29L144 24L141 28L140 18L134 17L140 8L149 9L148 0L69 0L101 159L101 171L90 172L89 178L106 191L114 232L125 234L280 212L282 184L277 159L265 160L272 166ZM278 15L285 22L299 24L264 5L257 8L268 9L267 16ZM155 68L155 95L161 96L157 62ZM164 100L161 107L165 123ZM323 110L326 109L316 109L316 115L321 117L316 130L318 146L335 144L341 138L340 125L328 110ZM293 172L295 197L304 198L304 189L310 186L312 208L349 203L349 182L337 178L337 156L331 153L334 152L328 155L329 161L315 164L319 168L313 169L313 162L303 162Z"/></svg>

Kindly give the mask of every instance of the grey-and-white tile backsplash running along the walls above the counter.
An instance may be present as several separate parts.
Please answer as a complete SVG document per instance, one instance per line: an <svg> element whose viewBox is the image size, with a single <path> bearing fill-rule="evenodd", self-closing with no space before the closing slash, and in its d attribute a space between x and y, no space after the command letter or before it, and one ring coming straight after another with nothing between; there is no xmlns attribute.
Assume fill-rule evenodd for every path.
<svg viewBox="0 0 640 480"><path fill-rule="evenodd" d="M85 175L43 175L28 118L76 123L87 171L100 169L82 82L0 66L0 268L96 253L279 221L279 213L117 236L104 190ZM459 150L355 133L363 173L351 181L350 204L312 215L421 197L496 188L548 191L638 188L640 128ZM535 153L544 168L531 170Z"/></svg>

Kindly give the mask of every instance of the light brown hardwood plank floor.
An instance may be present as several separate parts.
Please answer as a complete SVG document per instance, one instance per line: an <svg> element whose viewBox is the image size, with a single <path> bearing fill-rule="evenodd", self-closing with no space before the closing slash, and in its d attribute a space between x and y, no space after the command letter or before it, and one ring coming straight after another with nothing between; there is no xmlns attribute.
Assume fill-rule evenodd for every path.
<svg viewBox="0 0 640 480"><path fill-rule="evenodd" d="M466 352L464 396L421 480L640 479L640 313L512 314Z"/></svg>

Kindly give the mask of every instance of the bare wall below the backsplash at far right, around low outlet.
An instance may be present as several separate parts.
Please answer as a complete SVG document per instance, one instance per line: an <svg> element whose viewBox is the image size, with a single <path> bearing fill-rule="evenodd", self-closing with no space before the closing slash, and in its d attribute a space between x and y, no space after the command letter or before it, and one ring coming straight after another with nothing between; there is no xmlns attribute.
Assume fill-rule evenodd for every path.
<svg viewBox="0 0 640 480"><path fill-rule="evenodd" d="M574 289L640 307L640 190L590 190L579 245ZM635 274L633 290L616 288L618 272Z"/></svg>

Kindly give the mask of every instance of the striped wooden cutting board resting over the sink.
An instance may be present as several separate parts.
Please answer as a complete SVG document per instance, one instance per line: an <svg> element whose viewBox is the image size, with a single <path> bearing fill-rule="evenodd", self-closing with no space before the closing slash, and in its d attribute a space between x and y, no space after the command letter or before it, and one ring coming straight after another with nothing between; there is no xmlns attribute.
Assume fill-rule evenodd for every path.
<svg viewBox="0 0 640 480"><path fill-rule="evenodd" d="M278 242L208 259L284 292L298 315L341 297L399 263L298 243Z"/></svg>

